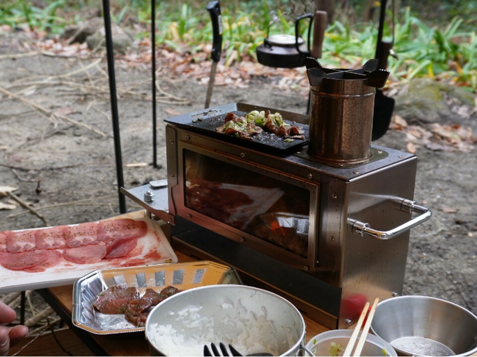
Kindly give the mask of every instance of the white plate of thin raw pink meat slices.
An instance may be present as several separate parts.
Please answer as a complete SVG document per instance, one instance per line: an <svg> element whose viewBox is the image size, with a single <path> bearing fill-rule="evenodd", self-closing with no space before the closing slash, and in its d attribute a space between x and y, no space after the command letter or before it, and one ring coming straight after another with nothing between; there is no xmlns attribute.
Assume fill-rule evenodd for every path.
<svg viewBox="0 0 477 357"><path fill-rule="evenodd" d="M177 262L143 212L100 222L0 232L0 294L72 284L90 271Z"/></svg>

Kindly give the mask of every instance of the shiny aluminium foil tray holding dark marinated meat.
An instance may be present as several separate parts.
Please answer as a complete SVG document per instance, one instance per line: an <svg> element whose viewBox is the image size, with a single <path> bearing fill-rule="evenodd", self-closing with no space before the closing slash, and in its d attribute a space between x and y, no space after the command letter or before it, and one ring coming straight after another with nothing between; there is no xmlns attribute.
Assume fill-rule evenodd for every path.
<svg viewBox="0 0 477 357"><path fill-rule="evenodd" d="M103 314L94 309L99 293L113 285L136 287L142 296L147 288L160 291L168 285L187 290L206 285L242 284L237 271L211 261L169 263L93 271L73 286L73 324L97 335L144 331L123 314Z"/></svg>

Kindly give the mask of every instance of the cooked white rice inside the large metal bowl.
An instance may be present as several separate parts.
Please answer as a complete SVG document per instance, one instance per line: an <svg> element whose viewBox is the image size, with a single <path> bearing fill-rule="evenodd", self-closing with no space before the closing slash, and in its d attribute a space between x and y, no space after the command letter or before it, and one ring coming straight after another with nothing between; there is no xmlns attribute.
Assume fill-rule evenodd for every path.
<svg viewBox="0 0 477 357"><path fill-rule="evenodd" d="M247 311L240 300L236 306L217 306L214 316L201 316L201 309L194 306L176 312L174 326L151 324L151 343L166 356L203 356L204 345L210 349L211 342L231 344L242 356L265 352L278 356L295 344L290 329L282 326L279 332L263 306L258 314Z"/></svg>

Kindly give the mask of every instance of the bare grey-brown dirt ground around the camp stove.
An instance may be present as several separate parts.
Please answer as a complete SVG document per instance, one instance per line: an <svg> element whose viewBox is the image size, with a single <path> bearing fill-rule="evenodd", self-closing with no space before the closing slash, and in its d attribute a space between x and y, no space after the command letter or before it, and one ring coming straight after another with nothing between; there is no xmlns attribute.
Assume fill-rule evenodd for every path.
<svg viewBox="0 0 477 357"><path fill-rule="evenodd" d="M0 49L8 55L8 47ZM0 98L0 186L17 187L13 193L38 213L11 202L18 207L0 210L0 231L119 214L107 68L100 61L85 69L93 62L43 55L0 60L0 88L17 95L3 91ZM166 103L157 109L162 167L153 168L150 69L117 63L116 76L125 186L165 178L163 119L202 109L206 86L159 72L159 99ZM306 92L268 82L217 86L212 106L245 102L305 113ZM470 124L476 132L475 121ZM406 134L390 130L375 143L405 151ZM477 313L477 155L426 147L416 155L414 198L430 207L433 217L411 231L404 294L444 298ZM139 208L126 203L128 211Z"/></svg>

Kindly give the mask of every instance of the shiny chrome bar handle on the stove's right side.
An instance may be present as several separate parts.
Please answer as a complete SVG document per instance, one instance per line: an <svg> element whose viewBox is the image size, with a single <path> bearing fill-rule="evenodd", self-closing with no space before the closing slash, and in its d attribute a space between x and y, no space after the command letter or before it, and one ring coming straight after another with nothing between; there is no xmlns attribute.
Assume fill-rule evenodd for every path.
<svg viewBox="0 0 477 357"><path fill-rule="evenodd" d="M419 216L389 231L378 231L373 229L369 223L364 223L348 218L348 225L351 229L351 232L361 237L369 236L376 239L386 240L394 238L401 233L409 231L411 228L414 228L417 225L420 225L421 223L427 221L432 216L432 212L429 208L417 205L415 201L402 199L399 201L399 203L401 211L409 213L418 213Z"/></svg>

